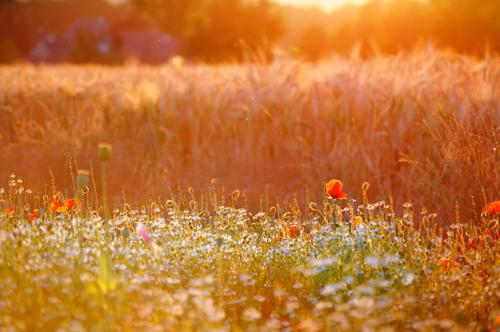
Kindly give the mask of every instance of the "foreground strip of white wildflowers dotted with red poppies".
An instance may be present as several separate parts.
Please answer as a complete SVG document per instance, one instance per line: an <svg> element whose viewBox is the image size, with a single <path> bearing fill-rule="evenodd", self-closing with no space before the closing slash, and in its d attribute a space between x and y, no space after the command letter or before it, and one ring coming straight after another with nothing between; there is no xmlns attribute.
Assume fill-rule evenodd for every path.
<svg viewBox="0 0 500 332"><path fill-rule="evenodd" d="M500 201L443 232L332 179L306 211L197 200L92 207L0 190L2 330L473 331L498 328ZM86 178L87 177L87 178ZM83 178L83 179L82 179ZM78 180L78 179L77 179ZM366 191L368 184L363 189ZM82 190L82 192L79 192ZM224 202L224 198L227 200ZM224 203L223 203L224 202Z"/></svg>

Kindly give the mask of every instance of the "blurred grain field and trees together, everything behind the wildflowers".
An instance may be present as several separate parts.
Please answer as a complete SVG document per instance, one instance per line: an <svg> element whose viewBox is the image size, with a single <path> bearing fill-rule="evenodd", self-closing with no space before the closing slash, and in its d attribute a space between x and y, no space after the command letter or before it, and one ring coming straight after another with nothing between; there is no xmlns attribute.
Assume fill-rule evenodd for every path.
<svg viewBox="0 0 500 332"><path fill-rule="evenodd" d="M307 206L335 177L472 217L500 192L499 50L499 0L0 0L0 182L86 169L97 202L105 142L115 206L213 178Z"/></svg>

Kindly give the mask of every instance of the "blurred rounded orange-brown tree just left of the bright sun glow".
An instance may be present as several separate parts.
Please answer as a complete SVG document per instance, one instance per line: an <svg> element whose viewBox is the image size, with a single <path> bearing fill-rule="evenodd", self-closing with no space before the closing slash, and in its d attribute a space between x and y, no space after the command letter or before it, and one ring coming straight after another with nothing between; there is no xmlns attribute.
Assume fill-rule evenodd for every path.
<svg viewBox="0 0 500 332"><path fill-rule="evenodd" d="M241 59L272 48L282 18L267 0L134 0L159 26L177 37L182 53L205 61Z"/></svg>

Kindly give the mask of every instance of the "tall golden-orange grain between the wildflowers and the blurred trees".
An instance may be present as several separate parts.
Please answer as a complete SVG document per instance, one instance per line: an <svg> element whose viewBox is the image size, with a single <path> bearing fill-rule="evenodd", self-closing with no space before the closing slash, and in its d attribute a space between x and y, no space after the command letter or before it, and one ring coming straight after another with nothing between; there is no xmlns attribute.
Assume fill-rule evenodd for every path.
<svg viewBox="0 0 500 332"><path fill-rule="evenodd" d="M115 202L212 178L251 207L265 191L306 202L336 177L354 197L368 181L372 200L412 201L453 222L456 206L473 217L498 198L499 135L498 58L426 50L319 65L0 68L1 178L15 172L38 191L51 170L70 188L70 159L90 168L106 141Z"/></svg>

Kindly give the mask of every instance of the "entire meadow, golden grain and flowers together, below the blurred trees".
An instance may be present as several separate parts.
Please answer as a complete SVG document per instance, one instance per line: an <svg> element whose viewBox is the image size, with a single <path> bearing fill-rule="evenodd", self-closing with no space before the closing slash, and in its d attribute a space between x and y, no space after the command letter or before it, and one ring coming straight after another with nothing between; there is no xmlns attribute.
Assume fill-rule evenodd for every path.
<svg viewBox="0 0 500 332"><path fill-rule="evenodd" d="M0 67L0 329L495 331L499 80L431 48Z"/></svg>

